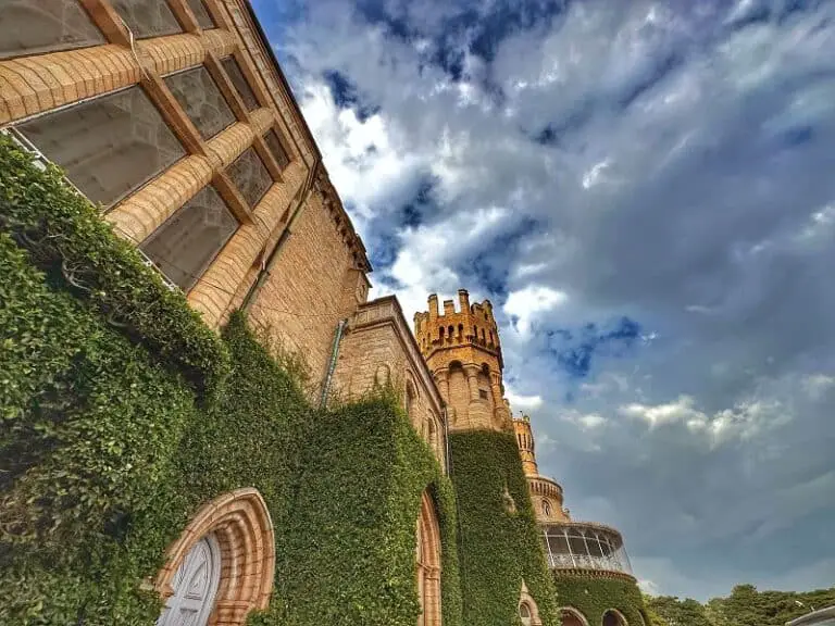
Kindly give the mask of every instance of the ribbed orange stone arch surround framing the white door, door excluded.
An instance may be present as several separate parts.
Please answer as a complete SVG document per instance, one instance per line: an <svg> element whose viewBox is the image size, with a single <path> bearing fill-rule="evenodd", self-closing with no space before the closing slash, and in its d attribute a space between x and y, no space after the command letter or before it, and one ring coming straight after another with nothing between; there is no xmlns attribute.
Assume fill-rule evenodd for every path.
<svg viewBox="0 0 835 626"><path fill-rule="evenodd" d="M166 551L154 587L163 601L174 593L175 574L200 541L211 538L220 555L220 578L209 626L242 626L252 610L266 609L275 575L275 536L270 511L247 487L204 504Z"/></svg>

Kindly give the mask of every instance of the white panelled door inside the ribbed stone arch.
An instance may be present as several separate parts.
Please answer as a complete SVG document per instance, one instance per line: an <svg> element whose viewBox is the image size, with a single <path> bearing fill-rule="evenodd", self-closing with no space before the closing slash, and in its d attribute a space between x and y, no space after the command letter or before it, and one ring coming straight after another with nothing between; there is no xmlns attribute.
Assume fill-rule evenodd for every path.
<svg viewBox="0 0 835 626"><path fill-rule="evenodd" d="M189 550L171 583L174 593L165 602L157 626L205 626L217 592L221 551L213 535Z"/></svg>

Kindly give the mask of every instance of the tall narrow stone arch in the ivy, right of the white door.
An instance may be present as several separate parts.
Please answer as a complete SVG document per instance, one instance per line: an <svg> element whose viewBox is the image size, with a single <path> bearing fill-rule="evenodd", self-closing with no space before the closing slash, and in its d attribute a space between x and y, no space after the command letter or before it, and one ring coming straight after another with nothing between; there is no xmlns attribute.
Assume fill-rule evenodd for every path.
<svg viewBox="0 0 835 626"><path fill-rule="evenodd" d="M440 626L440 526L428 489L421 497L415 560L421 604L418 626Z"/></svg>

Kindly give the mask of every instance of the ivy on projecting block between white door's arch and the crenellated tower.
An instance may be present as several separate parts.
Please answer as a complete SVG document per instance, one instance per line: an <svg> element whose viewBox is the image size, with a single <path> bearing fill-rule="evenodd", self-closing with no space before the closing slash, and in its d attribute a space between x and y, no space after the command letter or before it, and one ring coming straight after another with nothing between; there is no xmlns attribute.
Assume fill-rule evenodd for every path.
<svg viewBox="0 0 835 626"><path fill-rule="evenodd" d="M415 519L428 487L443 537L444 623L459 626L451 489L394 399L320 415L307 437L297 513L278 546L282 600L257 623L412 626Z"/></svg>

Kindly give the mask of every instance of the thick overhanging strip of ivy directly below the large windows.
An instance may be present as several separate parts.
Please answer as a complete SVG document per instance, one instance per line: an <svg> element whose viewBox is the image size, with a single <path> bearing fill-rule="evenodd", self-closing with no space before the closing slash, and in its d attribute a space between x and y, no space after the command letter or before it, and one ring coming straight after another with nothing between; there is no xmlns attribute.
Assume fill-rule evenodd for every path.
<svg viewBox="0 0 835 626"><path fill-rule="evenodd" d="M223 380L228 367L223 345L183 293L169 290L130 243L113 236L96 209L63 183L58 167L34 166L3 134L0 227L29 250L50 279L178 368L198 391Z"/></svg>

